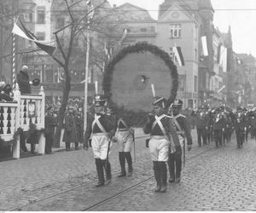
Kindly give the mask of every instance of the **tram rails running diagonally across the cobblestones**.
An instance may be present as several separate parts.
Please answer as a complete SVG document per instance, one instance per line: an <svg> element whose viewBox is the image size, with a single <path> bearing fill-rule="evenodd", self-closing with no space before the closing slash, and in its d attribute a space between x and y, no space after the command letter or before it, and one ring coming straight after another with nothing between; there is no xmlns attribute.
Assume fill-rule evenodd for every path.
<svg viewBox="0 0 256 213"><path fill-rule="evenodd" d="M145 136L144 136L145 137ZM186 158L186 163L189 164L191 162L192 159L194 158L197 158L199 157L200 155L204 154L204 153L207 153L209 151L211 151L214 147L208 147L207 149L199 152L199 153L195 153L193 156L189 157L189 158ZM145 164L152 164L152 161L151 160L144 160L143 162L141 163L136 163L133 165L134 169L138 169L140 167L142 167L143 165ZM115 171L113 172L113 176L116 176L119 174L119 170L118 171ZM133 184L131 187L126 187L124 190L122 190L121 192L118 192L118 193L114 193L113 195L109 196L108 198L106 199L102 199L101 201L97 202L96 204L91 204L89 207L87 208L84 208L83 211L87 211L87 210L94 210L96 209L98 206L102 205L102 204L106 204L108 203L108 201L111 201L115 198L117 198L119 195L121 194L125 194L125 193L128 193L129 191L131 191L132 189L140 186L140 185L143 185L143 183L147 182L147 181L151 181L152 179L154 179L154 176L149 176L147 177L146 179L143 179L143 181L139 181L135 184ZM115 179L113 179L113 182L114 182ZM49 196L45 196L44 198L41 198L41 199L37 199L37 200L33 200L33 202L29 203L29 204L24 204L24 205L21 205L19 207L15 207L13 210L22 210L23 208L27 208L29 207L30 205L32 204L37 204L37 203L40 203L40 202L44 202L44 200L47 200L47 199L53 199L55 197L58 197L58 196L61 196L61 194L65 194L65 193L68 193L68 192L71 192L73 190L76 190L76 189L79 189L79 187L85 187L85 186L91 186L93 183L96 183L96 180L94 181L84 181L83 183L80 183L74 187L69 187L67 188L66 190L63 190L59 193L53 193ZM91 187L89 187L91 188ZM13 211L12 210L12 211Z"/></svg>

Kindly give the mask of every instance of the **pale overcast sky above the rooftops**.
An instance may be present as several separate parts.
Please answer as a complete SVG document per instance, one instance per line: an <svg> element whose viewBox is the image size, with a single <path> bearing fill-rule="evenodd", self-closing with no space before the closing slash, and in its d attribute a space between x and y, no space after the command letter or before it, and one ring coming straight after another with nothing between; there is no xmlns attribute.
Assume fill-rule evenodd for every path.
<svg viewBox="0 0 256 213"><path fill-rule="evenodd" d="M164 0L108 0L117 6L132 3L147 9L157 19L160 3ZM256 0L212 0L215 10L213 24L220 32L231 27L233 50L237 54L252 54L256 57Z"/></svg>

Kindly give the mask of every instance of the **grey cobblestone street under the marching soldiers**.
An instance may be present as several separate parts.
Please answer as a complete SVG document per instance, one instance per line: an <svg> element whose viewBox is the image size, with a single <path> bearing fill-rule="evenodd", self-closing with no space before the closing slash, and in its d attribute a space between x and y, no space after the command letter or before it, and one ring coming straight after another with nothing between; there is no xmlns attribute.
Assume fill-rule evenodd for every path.
<svg viewBox="0 0 256 213"><path fill-rule="evenodd" d="M187 152L182 181L168 183L166 193L154 193L145 137L141 130L137 135L137 162L131 177L115 177L119 162L113 144L113 181L108 187L94 187L91 150L1 162L0 210L256 210L254 141L241 150L234 139L218 149L213 142L197 147L193 131L194 145Z"/></svg>

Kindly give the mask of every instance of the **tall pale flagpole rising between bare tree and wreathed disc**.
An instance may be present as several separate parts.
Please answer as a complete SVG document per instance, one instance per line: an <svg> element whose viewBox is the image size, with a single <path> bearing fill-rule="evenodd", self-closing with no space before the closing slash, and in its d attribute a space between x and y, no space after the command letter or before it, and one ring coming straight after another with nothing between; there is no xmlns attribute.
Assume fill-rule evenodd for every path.
<svg viewBox="0 0 256 213"><path fill-rule="evenodd" d="M90 7L87 4L87 11ZM89 52L90 52L90 16L87 16L87 31L86 31L86 60L84 73L84 133L87 127L87 97L88 97L88 74L89 74Z"/></svg>

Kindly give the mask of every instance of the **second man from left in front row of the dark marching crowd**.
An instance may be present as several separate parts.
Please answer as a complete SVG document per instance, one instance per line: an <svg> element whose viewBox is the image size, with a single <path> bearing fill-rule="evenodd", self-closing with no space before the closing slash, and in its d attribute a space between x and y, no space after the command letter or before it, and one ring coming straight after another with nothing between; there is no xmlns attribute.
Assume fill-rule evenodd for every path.
<svg viewBox="0 0 256 213"><path fill-rule="evenodd" d="M216 109L213 118L213 134L216 147L222 146L222 138L224 132L224 117L219 108Z"/></svg>

